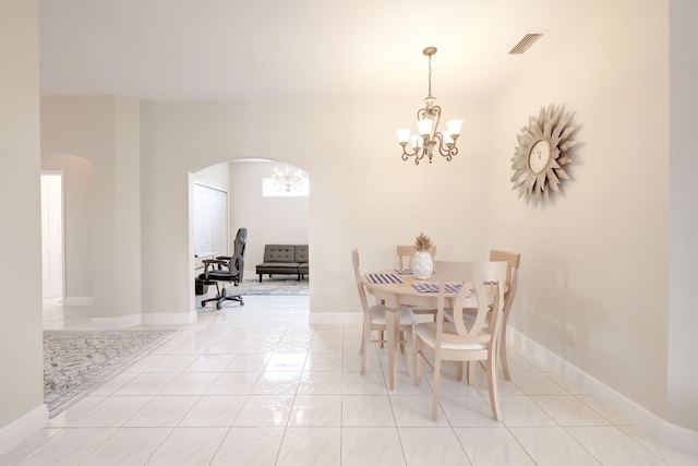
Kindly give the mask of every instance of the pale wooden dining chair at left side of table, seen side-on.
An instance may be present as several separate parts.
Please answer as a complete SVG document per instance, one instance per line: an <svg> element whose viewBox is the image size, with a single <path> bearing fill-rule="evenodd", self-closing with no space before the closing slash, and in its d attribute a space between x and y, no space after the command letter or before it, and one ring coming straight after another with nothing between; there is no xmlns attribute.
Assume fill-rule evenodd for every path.
<svg viewBox="0 0 698 466"><path fill-rule="evenodd" d="M363 360L361 362L361 374L364 375L366 373L366 366L369 363L369 347L371 343L374 342L384 342L382 338L385 335L385 331L387 330L385 323L385 312L388 309L384 304L374 304L369 306L369 300L366 298L366 289L363 284L363 279L361 277L361 267L359 261L359 250L351 250L351 263L353 265L353 275L357 283L357 290L359 291L359 299L361 300L361 308L363 310L363 332L361 335L361 349L360 353L363 355ZM413 351L413 338L412 338L412 325L414 325L414 313L412 310L406 306L400 306L397 308L400 313L400 323L399 323L399 333L401 335L401 340L407 345L406 353L408 354L408 367L411 365L409 360L411 359L411 355ZM372 332L378 332L380 337L374 339L372 337Z"/></svg>

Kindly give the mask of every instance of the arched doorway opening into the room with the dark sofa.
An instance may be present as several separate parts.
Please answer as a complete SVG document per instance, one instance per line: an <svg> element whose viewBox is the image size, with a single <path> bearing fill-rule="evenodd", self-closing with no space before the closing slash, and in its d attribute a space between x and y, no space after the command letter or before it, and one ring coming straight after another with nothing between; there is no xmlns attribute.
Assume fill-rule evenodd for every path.
<svg viewBox="0 0 698 466"><path fill-rule="evenodd" d="M274 182L275 174L287 172L292 178L290 187L285 182ZM296 176L300 180L294 180ZM279 160L239 158L192 172L190 184L190 247L194 256L194 278L203 271L202 256L218 252L207 246L212 244L209 239L215 235L204 235L202 231L220 231L214 225L221 224L209 216L210 211L202 208L202 191L208 190L212 199L220 196L220 193L227 196L228 218L222 224L227 227L228 251L233 250L232 240L238 228L248 228L243 272L246 289L258 282L255 266L263 262L265 244L309 244L310 179L302 168ZM296 275L273 278L281 285L287 283L286 279L297 280ZM301 280L306 290L310 274L306 274ZM195 288L194 282L192 279L192 287ZM268 287L273 284L264 285ZM194 292L193 297L194 307L201 309L201 300L208 296Z"/></svg>

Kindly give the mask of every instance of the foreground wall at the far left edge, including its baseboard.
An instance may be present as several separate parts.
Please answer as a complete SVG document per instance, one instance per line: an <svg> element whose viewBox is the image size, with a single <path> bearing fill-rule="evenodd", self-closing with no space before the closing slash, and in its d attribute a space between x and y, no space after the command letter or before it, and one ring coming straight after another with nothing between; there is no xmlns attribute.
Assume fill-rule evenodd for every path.
<svg viewBox="0 0 698 466"><path fill-rule="evenodd" d="M0 454L48 420L41 345L38 12L0 2Z"/></svg>

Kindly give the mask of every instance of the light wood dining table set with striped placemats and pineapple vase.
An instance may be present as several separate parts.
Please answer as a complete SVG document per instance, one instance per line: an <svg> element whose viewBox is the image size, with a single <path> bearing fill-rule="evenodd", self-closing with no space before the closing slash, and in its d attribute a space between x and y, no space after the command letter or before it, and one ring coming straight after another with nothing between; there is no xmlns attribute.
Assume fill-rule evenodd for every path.
<svg viewBox="0 0 698 466"><path fill-rule="evenodd" d="M397 386L397 354L399 354L399 306L436 309L438 306L438 280L435 276L431 279L419 279L410 270L387 270L366 273L362 276L363 284L369 294L386 307L385 326L386 343L388 349L388 389ZM486 284L488 294L496 294L494 283ZM459 284L446 284L444 292L444 307L452 306L453 299L458 295ZM474 296L474 290L470 289ZM414 355L407 353L408 371L412 373Z"/></svg>

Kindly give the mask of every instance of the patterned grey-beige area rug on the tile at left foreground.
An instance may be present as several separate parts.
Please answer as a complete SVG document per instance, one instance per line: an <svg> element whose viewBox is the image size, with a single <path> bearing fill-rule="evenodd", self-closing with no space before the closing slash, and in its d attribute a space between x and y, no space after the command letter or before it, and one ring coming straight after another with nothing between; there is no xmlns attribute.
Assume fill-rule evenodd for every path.
<svg viewBox="0 0 698 466"><path fill-rule="evenodd" d="M44 402L49 417L116 375L173 331L44 331Z"/></svg>

